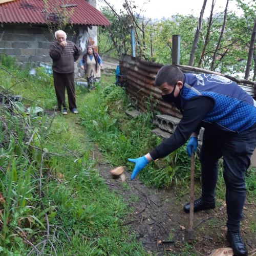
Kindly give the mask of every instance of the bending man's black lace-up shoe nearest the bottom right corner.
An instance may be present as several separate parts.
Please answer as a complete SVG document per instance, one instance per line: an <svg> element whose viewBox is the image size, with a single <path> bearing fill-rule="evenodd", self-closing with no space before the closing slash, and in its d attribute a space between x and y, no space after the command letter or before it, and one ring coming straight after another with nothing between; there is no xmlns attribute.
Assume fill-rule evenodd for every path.
<svg viewBox="0 0 256 256"><path fill-rule="evenodd" d="M233 249L236 256L248 255L245 243L242 239L240 231L227 230L227 241Z"/></svg>

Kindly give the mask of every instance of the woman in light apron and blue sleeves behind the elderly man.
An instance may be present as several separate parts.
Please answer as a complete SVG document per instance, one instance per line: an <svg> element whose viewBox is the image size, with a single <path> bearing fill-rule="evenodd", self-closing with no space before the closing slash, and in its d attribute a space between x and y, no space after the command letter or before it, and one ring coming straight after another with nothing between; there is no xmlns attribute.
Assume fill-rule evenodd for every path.
<svg viewBox="0 0 256 256"><path fill-rule="evenodd" d="M86 72L88 88L93 87L100 80L100 68L102 60L98 53L94 52L93 46L88 46L86 54L80 60L80 67Z"/></svg>

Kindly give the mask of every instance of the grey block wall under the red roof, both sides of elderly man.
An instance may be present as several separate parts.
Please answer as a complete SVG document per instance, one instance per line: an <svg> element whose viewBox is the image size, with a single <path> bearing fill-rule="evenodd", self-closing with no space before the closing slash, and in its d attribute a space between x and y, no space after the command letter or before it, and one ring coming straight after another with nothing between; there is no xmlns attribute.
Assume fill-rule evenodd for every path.
<svg viewBox="0 0 256 256"><path fill-rule="evenodd" d="M97 46L96 26L73 26L72 29L65 29L65 32L67 40L80 46L83 53L89 41ZM49 47L54 40L54 35L49 32L47 26L2 24L0 27L0 54L15 57L19 65L36 66L39 62L51 65ZM77 72L78 65L75 65L75 73Z"/></svg>

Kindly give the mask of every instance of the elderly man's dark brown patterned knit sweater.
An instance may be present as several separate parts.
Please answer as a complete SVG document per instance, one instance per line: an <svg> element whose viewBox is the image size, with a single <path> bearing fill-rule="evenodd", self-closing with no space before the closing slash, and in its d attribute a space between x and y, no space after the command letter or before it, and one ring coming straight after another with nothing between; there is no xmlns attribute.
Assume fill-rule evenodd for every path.
<svg viewBox="0 0 256 256"><path fill-rule="evenodd" d="M68 45L62 47L57 41L50 46L50 57L53 60L52 69L57 73L74 72L74 61L81 54L81 49L74 42L67 41Z"/></svg>

